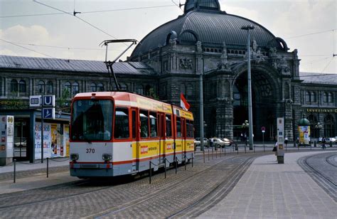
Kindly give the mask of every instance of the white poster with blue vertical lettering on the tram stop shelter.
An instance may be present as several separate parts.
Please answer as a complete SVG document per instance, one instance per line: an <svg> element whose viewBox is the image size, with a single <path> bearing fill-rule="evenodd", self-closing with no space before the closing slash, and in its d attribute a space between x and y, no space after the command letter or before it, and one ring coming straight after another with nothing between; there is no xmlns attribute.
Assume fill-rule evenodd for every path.
<svg viewBox="0 0 337 219"><path fill-rule="evenodd" d="M43 122L36 122L34 127L35 135L35 159L41 159L41 130L43 128L43 158L50 157L51 150L51 124Z"/></svg>

